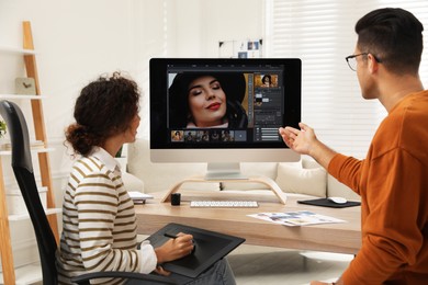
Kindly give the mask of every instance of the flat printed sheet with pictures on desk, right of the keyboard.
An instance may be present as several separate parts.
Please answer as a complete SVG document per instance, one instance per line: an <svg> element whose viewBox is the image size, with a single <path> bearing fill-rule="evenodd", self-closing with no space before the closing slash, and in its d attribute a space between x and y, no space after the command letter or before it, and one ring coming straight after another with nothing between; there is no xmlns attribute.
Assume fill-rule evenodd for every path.
<svg viewBox="0 0 428 285"><path fill-rule="evenodd" d="M284 226L311 226L317 224L346 223L329 216L319 215L309 210L285 212L285 213L258 213L249 217L267 220Z"/></svg>

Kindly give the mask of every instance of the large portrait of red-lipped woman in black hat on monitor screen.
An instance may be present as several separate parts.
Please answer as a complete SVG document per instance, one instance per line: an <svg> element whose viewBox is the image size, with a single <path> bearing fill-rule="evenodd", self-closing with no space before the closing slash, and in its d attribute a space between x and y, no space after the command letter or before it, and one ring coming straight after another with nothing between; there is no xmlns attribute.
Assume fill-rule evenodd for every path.
<svg viewBox="0 0 428 285"><path fill-rule="evenodd" d="M179 73L169 88L170 127L246 128L245 93L243 73Z"/></svg>

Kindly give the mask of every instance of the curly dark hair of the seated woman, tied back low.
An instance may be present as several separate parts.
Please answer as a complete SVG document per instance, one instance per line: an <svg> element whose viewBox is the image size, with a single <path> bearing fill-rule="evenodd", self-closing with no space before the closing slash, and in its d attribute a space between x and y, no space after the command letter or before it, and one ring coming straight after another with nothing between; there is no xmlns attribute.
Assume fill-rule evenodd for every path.
<svg viewBox="0 0 428 285"><path fill-rule="evenodd" d="M75 105L76 123L66 128L74 152L88 156L94 146L125 132L139 111L139 89L120 72L100 77L85 87Z"/></svg>

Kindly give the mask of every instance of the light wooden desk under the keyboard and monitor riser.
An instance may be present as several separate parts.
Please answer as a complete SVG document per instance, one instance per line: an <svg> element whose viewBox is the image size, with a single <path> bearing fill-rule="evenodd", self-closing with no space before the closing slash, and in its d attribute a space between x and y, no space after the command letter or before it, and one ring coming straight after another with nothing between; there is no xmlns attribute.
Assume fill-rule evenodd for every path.
<svg viewBox="0 0 428 285"><path fill-rule="evenodd" d="M136 205L137 232L150 235L168 223L184 224L207 230L221 231L246 239L247 244L280 247L356 254L361 247L361 207L327 208L297 204L289 195L286 205L280 204L273 195L250 195L225 192L181 192L181 205L160 203L162 194L155 194L144 205ZM258 208L191 208L192 200L256 200ZM320 215L346 220L340 224L325 224L305 227L288 227L263 221L248 214L262 212L312 210Z"/></svg>

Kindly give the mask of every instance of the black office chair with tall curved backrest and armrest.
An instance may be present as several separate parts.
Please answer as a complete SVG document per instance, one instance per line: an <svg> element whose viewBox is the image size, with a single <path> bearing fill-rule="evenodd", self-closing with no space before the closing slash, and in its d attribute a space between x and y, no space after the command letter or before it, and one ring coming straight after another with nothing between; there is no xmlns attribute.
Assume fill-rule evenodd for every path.
<svg viewBox="0 0 428 285"><path fill-rule="evenodd" d="M25 118L15 103L5 100L0 101L0 114L5 121L12 144L12 169L35 231L42 264L43 284L56 285L58 284L55 258L57 243L38 196ZM87 273L74 277L72 282L89 285L90 280L104 277L126 278L129 282L138 280L139 284L146 284L146 282L149 284L176 284L164 276L116 271Z"/></svg>

